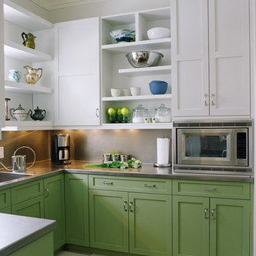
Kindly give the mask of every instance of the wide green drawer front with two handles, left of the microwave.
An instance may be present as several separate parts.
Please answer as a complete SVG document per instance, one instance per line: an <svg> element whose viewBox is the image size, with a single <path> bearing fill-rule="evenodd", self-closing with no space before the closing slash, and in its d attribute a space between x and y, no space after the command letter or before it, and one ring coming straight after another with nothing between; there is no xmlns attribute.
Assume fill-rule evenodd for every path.
<svg viewBox="0 0 256 256"><path fill-rule="evenodd" d="M171 180L90 175L89 189L171 194Z"/></svg>

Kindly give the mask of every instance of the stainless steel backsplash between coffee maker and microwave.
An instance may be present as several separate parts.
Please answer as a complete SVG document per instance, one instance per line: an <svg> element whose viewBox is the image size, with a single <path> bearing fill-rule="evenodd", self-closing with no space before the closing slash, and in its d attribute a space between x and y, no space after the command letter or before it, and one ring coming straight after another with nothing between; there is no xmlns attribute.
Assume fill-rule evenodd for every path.
<svg viewBox="0 0 256 256"><path fill-rule="evenodd" d="M157 160L157 138L171 138L171 130L55 130L51 136L57 133L71 136L71 159L94 162L100 162L103 153L117 150L153 163Z"/></svg>

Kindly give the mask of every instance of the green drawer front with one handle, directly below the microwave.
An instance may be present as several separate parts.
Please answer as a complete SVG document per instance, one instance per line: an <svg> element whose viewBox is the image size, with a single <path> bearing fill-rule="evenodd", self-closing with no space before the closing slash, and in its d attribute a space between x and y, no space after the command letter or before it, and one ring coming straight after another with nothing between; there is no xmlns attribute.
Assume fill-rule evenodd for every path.
<svg viewBox="0 0 256 256"><path fill-rule="evenodd" d="M172 194L249 199L249 183L173 180Z"/></svg>

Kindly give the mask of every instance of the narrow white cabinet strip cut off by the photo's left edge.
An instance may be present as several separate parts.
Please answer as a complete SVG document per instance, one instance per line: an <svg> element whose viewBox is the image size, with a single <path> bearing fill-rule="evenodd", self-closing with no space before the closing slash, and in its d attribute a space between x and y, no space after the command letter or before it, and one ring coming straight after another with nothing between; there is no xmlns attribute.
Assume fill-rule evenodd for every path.
<svg viewBox="0 0 256 256"><path fill-rule="evenodd" d="M3 28L3 3L0 0L0 28ZM4 113L4 63L3 63L3 30L0 30L0 127L5 126L5 113ZM1 130L0 130L0 139Z"/></svg>

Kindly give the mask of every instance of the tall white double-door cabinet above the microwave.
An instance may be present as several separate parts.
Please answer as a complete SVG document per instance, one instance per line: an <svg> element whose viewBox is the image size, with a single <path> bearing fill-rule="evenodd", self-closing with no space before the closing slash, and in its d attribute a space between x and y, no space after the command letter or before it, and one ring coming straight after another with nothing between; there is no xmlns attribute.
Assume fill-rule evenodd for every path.
<svg viewBox="0 0 256 256"><path fill-rule="evenodd" d="M249 0L171 0L171 37L174 117L250 117Z"/></svg>

